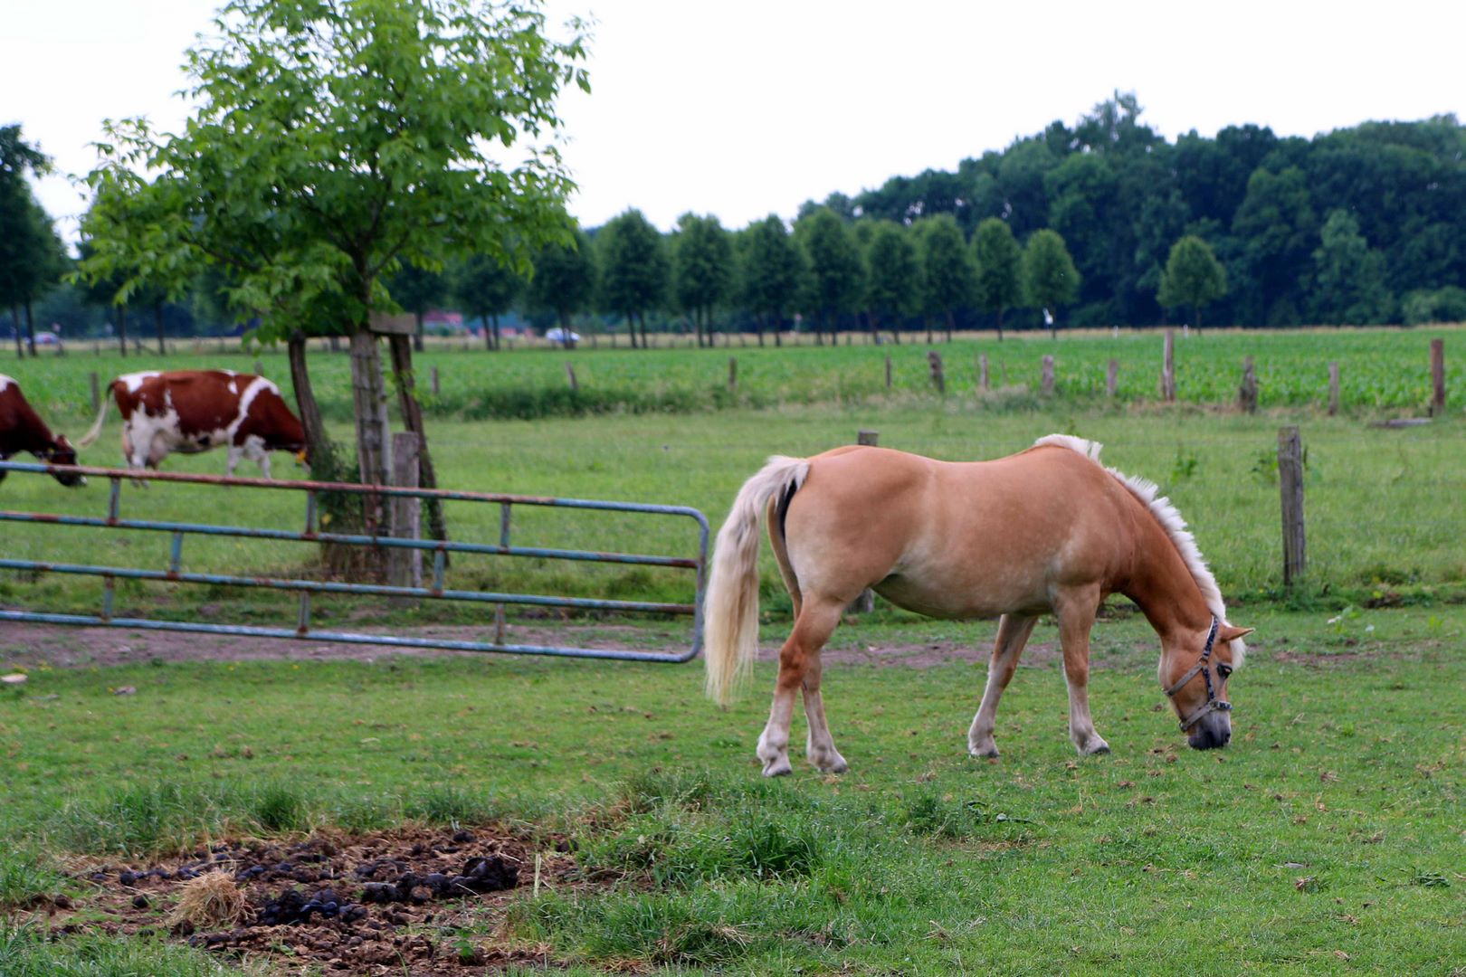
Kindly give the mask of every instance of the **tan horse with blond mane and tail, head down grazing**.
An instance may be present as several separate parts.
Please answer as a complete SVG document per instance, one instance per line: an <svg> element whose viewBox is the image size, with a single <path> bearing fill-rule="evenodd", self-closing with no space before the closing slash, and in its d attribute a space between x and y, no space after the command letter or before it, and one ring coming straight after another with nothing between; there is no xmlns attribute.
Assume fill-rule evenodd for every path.
<svg viewBox="0 0 1466 977"><path fill-rule="evenodd" d="M708 583L707 686L726 703L758 655L758 523L795 605L778 653L765 776L789 773L789 722L803 691L806 757L840 773L819 697L819 650L844 608L871 587L940 618L1001 615L972 756L998 754L998 699L1038 615L1053 612L1069 683L1069 737L1082 754L1110 746L1089 718L1089 628L1110 593L1130 598L1161 637L1160 680L1198 750L1231 738L1227 677L1252 628L1227 609L1186 523L1157 486L1100 464L1100 445L1050 435L995 461L934 461L874 447L812 458L776 456L743 483L718 532ZM1215 669L1215 677L1212 677Z"/></svg>

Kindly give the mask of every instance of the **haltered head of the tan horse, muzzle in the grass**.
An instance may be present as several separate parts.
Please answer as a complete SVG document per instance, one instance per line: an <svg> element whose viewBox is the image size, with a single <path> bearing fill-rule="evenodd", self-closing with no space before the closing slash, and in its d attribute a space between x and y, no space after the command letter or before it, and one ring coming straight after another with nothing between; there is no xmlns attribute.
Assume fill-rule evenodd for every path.
<svg viewBox="0 0 1466 977"><path fill-rule="evenodd" d="M1224 747L1231 738L1231 703L1227 678L1242 665L1242 639L1250 627L1233 627L1212 618L1205 631L1187 634L1161 656L1161 687L1176 706L1186 741L1196 750Z"/></svg>

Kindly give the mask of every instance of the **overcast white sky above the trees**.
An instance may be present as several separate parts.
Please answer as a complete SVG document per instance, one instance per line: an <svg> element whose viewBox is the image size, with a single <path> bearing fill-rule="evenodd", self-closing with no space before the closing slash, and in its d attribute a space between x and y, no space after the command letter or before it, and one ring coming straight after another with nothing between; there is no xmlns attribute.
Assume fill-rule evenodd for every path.
<svg viewBox="0 0 1466 977"><path fill-rule="evenodd" d="M194 35L216 0L0 4L0 125L63 173L95 163L104 117L170 127ZM570 209L597 226L639 207L729 227L896 174L953 168L1113 91L1167 138L1259 123L1311 136L1368 119L1466 117L1460 0L1380 4L550 0L598 21L594 94L561 103ZM67 239L84 209L38 187Z"/></svg>

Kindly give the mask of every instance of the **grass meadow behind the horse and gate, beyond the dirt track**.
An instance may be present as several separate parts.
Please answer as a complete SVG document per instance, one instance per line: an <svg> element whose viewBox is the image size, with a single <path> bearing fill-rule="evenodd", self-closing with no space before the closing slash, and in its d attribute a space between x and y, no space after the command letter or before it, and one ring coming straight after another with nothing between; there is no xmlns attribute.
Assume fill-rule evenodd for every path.
<svg viewBox="0 0 1466 977"><path fill-rule="evenodd" d="M1223 590L1231 598L1284 598L1277 486L1277 429L1300 423L1306 448L1309 571L1299 595L1341 608L1368 601L1429 601L1466 584L1466 492L1460 420L1380 429L1359 419L1277 412L1239 416L1182 407L1132 412L1041 410L988 413L973 403L937 407L907 401L880 409L792 407L778 412L559 419L539 422L440 422L432 448L440 479L460 489L526 495L557 494L692 505L714 529L737 486L773 453L815 454L849 444L859 428L881 444L951 460L1019 451L1056 431L1105 442L1104 460L1161 483L1187 517ZM116 428L108 432L108 442ZM345 432L343 432L345 434ZM95 456L97 451L103 454ZM110 460L110 448L94 458ZM173 457L170 470L223 470L218 454ZM281 466L289 469L289 466ZM299 472L283 470L286 478ZM104 516L106 485L59 491L41 476L15 475L0 486L6 508ZM246 523L299 529L296 494L259 489L154 485L123 488L123 516L154 520ZM450 502L450 532L460 540L497 542L498 507ZM688 519L576 514L515 507L513 542L597 551L696 554ZM6 555L164 570L167 533L85 530L6 523ZM308 543L189 539L183 568L204 573L318 574ZM764 606L786 614L787 596L765 552ZM290 598L218 586L173 587L119 582L117 612L154 612L213 621L290 623ZM457 557L449 586L475 590L572 593L689 602L692 574L641 567L592 567L509 557ZM0 574L0 602L37 609L95 611L101 582L63 576ZM430 603L416 614L380 601L318 598L318 625L359 624L390 615L397 623L482 623L490 609Z"/></svg>

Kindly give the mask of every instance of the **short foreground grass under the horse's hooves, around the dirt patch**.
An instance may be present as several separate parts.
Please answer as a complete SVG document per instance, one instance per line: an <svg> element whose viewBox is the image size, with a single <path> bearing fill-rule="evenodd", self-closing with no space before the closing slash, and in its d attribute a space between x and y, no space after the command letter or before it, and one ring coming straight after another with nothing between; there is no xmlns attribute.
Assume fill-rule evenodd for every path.
<svg viewBox="0 0 1466 977"><path fill-rule="evenodd" d="M965 754L981 665L836 664L827 707L852 772L799 763L776 782L754 759L767 664L729 710L695 666L32 669L0 700L0 838L145 860L224 833L517 819L570 833L608 888L523 892L465 932L583 970L1450 973L1466 958L1466 611L1234 617L1259 631L1224 751L1185 748L1154 636L1121 615L1097 628L1091 681L1110 756L1067 743L1045 623L1003 703L1000 760ZM981 646L992 628L963 633Z"/></svg>

